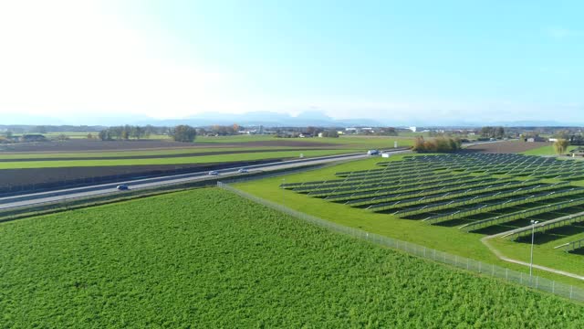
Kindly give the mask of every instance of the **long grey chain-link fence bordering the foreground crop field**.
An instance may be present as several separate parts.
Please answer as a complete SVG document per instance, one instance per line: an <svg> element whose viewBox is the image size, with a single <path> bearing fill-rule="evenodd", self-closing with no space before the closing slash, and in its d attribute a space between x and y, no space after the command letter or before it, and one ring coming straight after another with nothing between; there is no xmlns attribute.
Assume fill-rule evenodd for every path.
<svg viewBox="0 0 584 329"><path fill-rule="evenodd" d="M538 276L530 277L529 274L520 271L509 270L493 264L487 264L482 261L471 260L457 255L451 255L443 251L430 249L411 242L401 241L399 239L392 239L389 237L381 236L379 234L366 232L359 228L349 228L346 226L342 226L337 223L333 223L331 221L322 218L317 218L305 214L303 212L291 209L289 207L282 206L275 202L268 201L261 197L253 196L249 193L246 193L242 190L239 190L233 186L229 186L228 184L222 182L217 182L217 186L225 190L234 192L239 196L243 196L246 199L254 201L255 203L264 205L266 207L270 207L292 217L299 218L309 223L318 225L319 227L322 228L328 228L332 231L347 234L351 237L365 239L385 247L400 249L412 255L449 264L467 271L474 271L477 273L481 273L483 275L503 279L505 281L526 285L527 287L537 289L540 291L551 292L574 301L584 302L584 289L581 289L579 287L574 287L572 285L568 285L558 281L548 280Z"/></svg>

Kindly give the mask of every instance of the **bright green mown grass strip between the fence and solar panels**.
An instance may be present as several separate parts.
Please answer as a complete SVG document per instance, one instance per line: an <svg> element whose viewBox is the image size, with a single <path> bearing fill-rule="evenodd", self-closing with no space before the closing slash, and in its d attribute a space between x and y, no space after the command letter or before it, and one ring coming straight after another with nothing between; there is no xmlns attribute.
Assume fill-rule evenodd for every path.
<svg viewBox="0 0 584 329"><path fill-rule="evenodd" d="M391 157L390 160L400 160L401 158L402 156L396 155ZM240 183L236 186L256 196L278 203L285 203L287 207L349 227L361 228L372 233L410 241L474 260L509 267L517 271L528 271L526 267L498 260L495 254L480 241L484 237L482 234L466 233L458 228L432 226L420 220L402 219L389 214L373 213L360 208L328 202L317 197L298 194L290 190L283 190L278 187L283 180L286 183L296 183L335 179L338 178L334 175L336 172L370 169L375 167L374 164L379 161L379 158L372 158L301 174ZM527 244L512 243L514 243L512 249L504 248L502 251L504 253L508 252L509 255L507 256L509 257L521 255L519 259L525 260L529 255L529 246ZM497 247L501 246L497 244ZM536 246L535 255L537 256L537 264L584 275L584 266L579 255L567 254L558 249L549 249L547 245ZM536 271L536 273L552 280L564 281L584 287L584 282L565 276L551 274L547 271Z"/></svg>

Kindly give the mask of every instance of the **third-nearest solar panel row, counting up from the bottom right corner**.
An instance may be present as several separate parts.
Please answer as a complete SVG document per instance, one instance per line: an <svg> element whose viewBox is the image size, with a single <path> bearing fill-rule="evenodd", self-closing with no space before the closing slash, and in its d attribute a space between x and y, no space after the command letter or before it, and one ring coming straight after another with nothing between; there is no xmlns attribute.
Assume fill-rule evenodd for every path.
<svg viewBox="0 0 584 329"><path fill-rule="evenodd" d="M567 207L575 207L584 205L584 197L575 198L567 201L560 201L553 204L532 207L529 209L519 210L510 214L496 216L494 218L486 218L468 223L460 227L461 229L470 232L481 228L488 228L494 225L511 222L517 219L528 218L530 216L543 214L545 212L553 212Z"/></svg>

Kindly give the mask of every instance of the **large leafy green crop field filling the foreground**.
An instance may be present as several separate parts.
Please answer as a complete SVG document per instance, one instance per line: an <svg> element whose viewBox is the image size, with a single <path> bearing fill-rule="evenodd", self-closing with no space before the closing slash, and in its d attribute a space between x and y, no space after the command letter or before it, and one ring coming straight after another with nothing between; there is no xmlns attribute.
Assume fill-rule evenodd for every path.
<svg viewBox="0 0 584 329"><path fill-rule="evenodd" d="M582 306L199 189L0 224L0 327L561 327Z"/></svg>

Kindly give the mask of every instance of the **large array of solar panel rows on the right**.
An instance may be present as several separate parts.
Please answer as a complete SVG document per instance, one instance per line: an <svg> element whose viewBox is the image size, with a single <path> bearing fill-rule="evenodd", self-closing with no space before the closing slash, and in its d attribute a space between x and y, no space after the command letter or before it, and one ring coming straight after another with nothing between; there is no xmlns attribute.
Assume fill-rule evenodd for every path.
<svg viewBox="0 0 584 329"><path fill-rule="evenodd" d="M579 207L584 211L584 188L570 184L584 179L584 162L555 157L404 156L336 176L281 187L364 211L462 226L468 231Z"/></svg>

